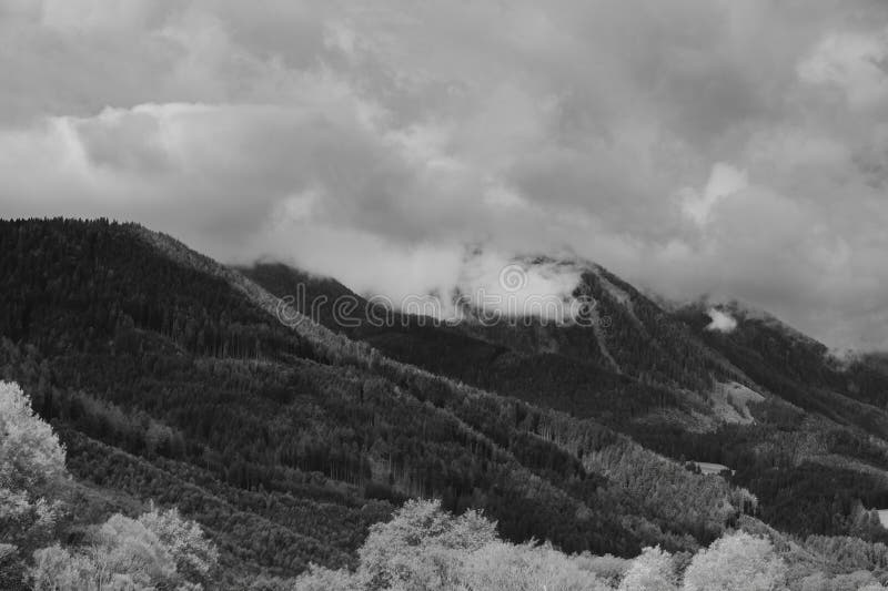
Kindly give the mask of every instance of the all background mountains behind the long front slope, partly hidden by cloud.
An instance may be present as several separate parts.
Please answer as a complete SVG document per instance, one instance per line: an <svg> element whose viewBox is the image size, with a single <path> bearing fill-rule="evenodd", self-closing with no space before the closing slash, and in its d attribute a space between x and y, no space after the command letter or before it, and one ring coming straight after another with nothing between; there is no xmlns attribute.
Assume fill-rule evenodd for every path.
<svg viewBox="0 0 888 591"><path fill-rule="evenodd" d="M737 303L715 308L736 323L715 330L713 306L665 309L603 267L575 264L584 268L574 295L592 298L606 329L524 318L444 327L401 315L386 326L319 319L392 358L595 419L674 460L729 467L731 482L787 531L846 533L855 500L886 507L888 374L878 356L840 363ZM374 316L365 298L339 283L331 289L331 279L285 265L242 272L278 295L302 291L302 302L356 299L351 320ZM834 519L836 498L842 519Z"/></svg>

